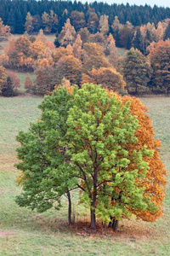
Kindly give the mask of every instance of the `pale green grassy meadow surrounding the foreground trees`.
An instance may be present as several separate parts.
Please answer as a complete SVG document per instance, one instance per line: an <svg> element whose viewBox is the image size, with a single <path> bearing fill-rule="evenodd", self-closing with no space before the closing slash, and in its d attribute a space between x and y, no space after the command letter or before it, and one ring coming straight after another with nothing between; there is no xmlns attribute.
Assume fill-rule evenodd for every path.
<svg viewBox="0 0 170 256"><path fill-rule="evenodd" d="M161 159L168 171L170 98L145 97L141 101L148 107L156 138L161 139ZM89 215L82 205L77 206L77 193L72 194L76 220L73 226L67 225L65 198L60 211L51 209L41 214L15 204L14 197L21 191L15 183L18 175L14 167L18 146L15 137L36 121L41 102L42 98L36 96L0 97L0 255L169 255L169 177L163 218L155 223L123 220L116 233L104 227L87 234L85 227L79 226L89 220Z"/></svg>

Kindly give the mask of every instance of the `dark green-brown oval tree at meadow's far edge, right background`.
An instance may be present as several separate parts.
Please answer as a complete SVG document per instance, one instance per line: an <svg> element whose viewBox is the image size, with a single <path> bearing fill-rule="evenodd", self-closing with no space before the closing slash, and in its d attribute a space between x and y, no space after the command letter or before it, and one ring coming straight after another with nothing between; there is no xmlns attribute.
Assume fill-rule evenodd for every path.
<svg viewBox="0 0 170 256"><path fill-rule="evenodd" d="M150 81L151 68L144 55L138 49L132 48L127 51L122 66L127 91L138 93L145 90Z"/></svg>

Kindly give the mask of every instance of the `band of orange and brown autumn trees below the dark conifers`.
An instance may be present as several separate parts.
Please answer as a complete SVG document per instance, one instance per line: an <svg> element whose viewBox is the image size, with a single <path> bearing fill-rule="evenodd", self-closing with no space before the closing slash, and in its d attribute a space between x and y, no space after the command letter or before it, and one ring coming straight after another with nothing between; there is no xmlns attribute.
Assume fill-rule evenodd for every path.
<svg viewBox="0 0 170 256"><path fill-rule="evenodd" d="M5 71L9 68L35 72L36 84L26 85L26 89L40 95L54 90L59 84L81 86L84 83L102 84L122 94L168 93L170 41L150 43L146 48L147 56L133 44L126 55L120 56L116 40L111 34L107 36L105 21L106 16L101 16L100 32L90 34L87 28L76 32L67 19L59 33L57 49L42 30L37 37L25 33L19 38L11 38L0 56L1 90L10 85L6 83ZM12 95L9 93L8 96Z"/></svg>

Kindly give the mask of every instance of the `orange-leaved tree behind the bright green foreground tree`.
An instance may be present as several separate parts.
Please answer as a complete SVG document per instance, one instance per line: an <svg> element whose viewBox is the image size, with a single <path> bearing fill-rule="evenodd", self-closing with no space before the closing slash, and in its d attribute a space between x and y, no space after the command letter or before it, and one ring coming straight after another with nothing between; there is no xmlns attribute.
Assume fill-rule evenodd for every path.
<svg viewBox="0 0 170 256"><path fill-rule="evenodd" d="M109 97L113 96L112 91L106 91ZM136 195L133 198L133 189L127 189L127 186L129 184L127 184L128 182L126 183L126 178L124 177L124 180L122 178L121 185L119 183L112 183L115 174L111 174L111 169L108 167L107 176L104 178L103 182L97 186L97 188L100 186L101 190L104 189L102 195L108 195L110 199L110 207L107 205L106 199L105 202L103 202L102 207L99 207L98 204L100 204L100 197L99 195L97 195L97 199L95 201L95 209L97 215L99 214L99 218L108 221L108 212L114 212L116 211L114 209L118 208L119 211L111 215L111 218L113 220L113 229L117 230L118 220L122 218L133 218L133 216L135 216L136 218L140 218L144 221L154 222L157 218L160 218L162 216L162 203L165 198L167 171L165 170L165 166L160 159L159 148L161 147L161 143L159 140L156 140L154 138L154 128L151 124L150 117L146 113L147 108L140 102L139 99L135 97L120 95L115 96L116 101L121 102L122 106L127 106L127 103L130 103L130 113L138 121L138 127L134 131L134 137L136 137L136 140L133 140L133 142L130 143L125 143L121 141L118 143L119 146L127 152L126 158L129 161L125 165L122 164L122 166L116 166L116 175L119 175L120 173L120 178L122 178L124 173L127 173L127 175L131 175L132 173L133 175L133 172L136 172L138 170L138 175L134 177L134 183L139 191L142 191L142 194L137 195L137 197L139 196L139 200L141 200L142 196L143 203L147 205L147 207L144 208L135 206L136 203L134 198ZM91 108L93 109L93 106L91 106ZM77 131L79 130L80 128L77 127ZM122 154L117 154L116 159L122 160ZM140 161L141 163L139 164ZM99 171L99 176L100 174L103 174L102 169ZM88 179L89 176L87 175L86 178ZM82 190L88 189L88 183L86 181L86 178L84 178L84 180L82 180L81 182ZM109 194L109 190L107 190L106 188L108 188L111 183L114 187L112 188L111 194ZM138 189L136 190L136 192L138 191ZM83 192L81 192L81 194L82 193ZM129 203L130 201L133 201L133 203ZM105 212L103 216L101 213L102 211Z"/></svg>

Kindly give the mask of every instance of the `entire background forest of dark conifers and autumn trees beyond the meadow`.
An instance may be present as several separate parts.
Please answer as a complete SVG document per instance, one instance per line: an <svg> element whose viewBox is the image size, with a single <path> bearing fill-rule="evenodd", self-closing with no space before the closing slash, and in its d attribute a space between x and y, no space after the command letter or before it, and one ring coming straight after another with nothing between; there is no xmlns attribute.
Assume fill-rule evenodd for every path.
<svg viewBox="0 0 170 256"><path fill-rule="evenodd" d="M24 86L39 95L85 82L121 94L170 89L168 8L4 0L0 16L0 38L8 40L0 55L3 96L18 93L16 72L34 73L36 81L26 77Z"/></svg>

